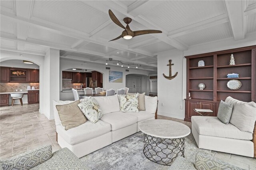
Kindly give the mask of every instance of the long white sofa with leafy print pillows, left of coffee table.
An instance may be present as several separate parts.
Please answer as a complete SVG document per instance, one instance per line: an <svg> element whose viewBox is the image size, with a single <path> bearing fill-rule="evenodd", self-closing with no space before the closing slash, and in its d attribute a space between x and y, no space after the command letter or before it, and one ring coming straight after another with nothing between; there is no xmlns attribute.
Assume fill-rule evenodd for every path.
<svg viewBox="0 0 256 170"><path fill-rule="evenodd" d="M122 138L139 132L138 124L148 119L155 119L157 114L157 97L145 96L145 111L120 112L117 95L108 97L94 97L100 105L103 116L95 124L90 121L65 130L61 124L56 105L65 105L74 101L53 101L54 119L58 144L69 148L78 158L108 146ZM86 99L81 99L82 102Z"/></svg>

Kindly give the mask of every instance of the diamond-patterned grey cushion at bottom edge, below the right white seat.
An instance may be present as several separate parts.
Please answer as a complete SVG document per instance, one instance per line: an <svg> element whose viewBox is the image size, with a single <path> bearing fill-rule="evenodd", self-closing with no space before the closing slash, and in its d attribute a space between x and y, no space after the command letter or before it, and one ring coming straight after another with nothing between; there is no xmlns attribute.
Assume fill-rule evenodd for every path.
<svg viewBox="0 0 256 170"><path fill-rule="evenodd" d="M197 170L243 170L242 168L202 153L196 154L195 165Z"/></svg>

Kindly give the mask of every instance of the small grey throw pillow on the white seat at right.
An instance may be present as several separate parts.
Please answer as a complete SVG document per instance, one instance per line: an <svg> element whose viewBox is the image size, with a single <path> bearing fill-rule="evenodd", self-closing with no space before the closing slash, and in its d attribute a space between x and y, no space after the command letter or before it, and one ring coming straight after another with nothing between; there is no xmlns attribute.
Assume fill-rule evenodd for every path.
<svg viewBox="0 0 256 170"><path fill-rule="evenodd" d="M228 125L232 115L232 109L233 109L232 104L228 104L224 101L220 101L220 106L219 106L218 115L217 115L218 119L220 119L222 123Z"/></svg>

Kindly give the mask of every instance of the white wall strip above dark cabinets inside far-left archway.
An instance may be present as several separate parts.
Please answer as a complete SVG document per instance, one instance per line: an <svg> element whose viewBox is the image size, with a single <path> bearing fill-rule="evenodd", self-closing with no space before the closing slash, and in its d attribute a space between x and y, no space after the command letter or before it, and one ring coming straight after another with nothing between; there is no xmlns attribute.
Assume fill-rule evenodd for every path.
<svg viewBox="0 0 256 170"><path fill-rule="evenodd" d="M0 63L2 67L17 67L17 68L26 68L26 69L39 69L37 64L26 64L23 63L23 60L17 62L16 60L6 60Z"/></svg>

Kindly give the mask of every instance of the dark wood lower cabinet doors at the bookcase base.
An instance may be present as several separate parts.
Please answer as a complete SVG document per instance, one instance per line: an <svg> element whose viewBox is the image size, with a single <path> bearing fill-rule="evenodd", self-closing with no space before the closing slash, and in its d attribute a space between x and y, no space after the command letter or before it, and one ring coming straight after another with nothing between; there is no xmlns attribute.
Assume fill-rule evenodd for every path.
<svg viewBox="0 0 256 170"><path fill-rule="evenodd" d="M199 116L198 113L194 111L194 109L210 109L213 113L209 116L215 116L215 103L213 102L206 102L206 101L194 101L194 100L186 100L185 106L185 121L191 121L192 116ZM208 114L208 113L204 113Z"/></svg>

